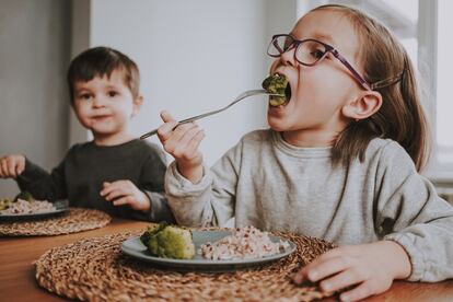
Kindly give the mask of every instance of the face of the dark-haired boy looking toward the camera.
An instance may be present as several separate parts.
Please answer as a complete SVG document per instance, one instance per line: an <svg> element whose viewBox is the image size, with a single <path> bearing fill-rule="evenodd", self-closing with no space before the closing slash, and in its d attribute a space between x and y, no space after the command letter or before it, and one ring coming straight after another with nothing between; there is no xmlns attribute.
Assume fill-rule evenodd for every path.
<svg viewBox="0 0 453 302"><path fill-rule="evenodd" d="M76 82L73 97L77 117L93 132L95 140L126 136L128 121L142 102L141 96L133 98L121 70L114 70L109 78Z"/></svg>

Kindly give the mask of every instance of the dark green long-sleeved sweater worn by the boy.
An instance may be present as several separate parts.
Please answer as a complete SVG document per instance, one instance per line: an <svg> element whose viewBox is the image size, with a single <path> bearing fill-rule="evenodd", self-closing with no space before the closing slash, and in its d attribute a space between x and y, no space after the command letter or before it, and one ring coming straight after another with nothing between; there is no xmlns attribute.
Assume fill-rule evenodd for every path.
<svg viewBox="0 0 453 302"><path fill-rule="evenodd" d="M165 155L155 144L136 139L102 147L91 141L74 144L50 174L27 159L16 181L21 190L36 199L68 199L72 207L98 209L115 217L173 222L164 197L165 170ZM127 205L115 207L100 195L104 182L126 179L148 195L150 212Z"/></svg>

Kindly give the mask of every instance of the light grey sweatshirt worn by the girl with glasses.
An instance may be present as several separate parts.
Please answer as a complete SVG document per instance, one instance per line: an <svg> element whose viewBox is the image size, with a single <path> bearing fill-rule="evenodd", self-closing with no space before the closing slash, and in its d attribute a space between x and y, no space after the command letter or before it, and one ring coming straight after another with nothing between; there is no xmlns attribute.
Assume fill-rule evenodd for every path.
<svg viewBox="0 0 453 302"><path fill-rule="evenodd" d="M453 207L395 141L373 139L365 160L333 169L330 148L298 148L272 130L251 132L193 184L173 162L169 205L184 225L254 225L338 245L392 240L413 281L453 277Z"/></svg>

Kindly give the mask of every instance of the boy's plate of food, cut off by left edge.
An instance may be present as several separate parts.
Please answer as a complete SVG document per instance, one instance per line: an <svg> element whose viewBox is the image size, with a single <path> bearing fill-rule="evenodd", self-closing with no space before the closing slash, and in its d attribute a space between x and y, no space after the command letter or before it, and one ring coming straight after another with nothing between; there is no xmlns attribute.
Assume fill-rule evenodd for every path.
<svg viewBox="0 0 453 302"><path fill-rule="evenodd" d="M13 199L0 199L0 221L42 219L61 214L68 209L67 200L36 200L30 193L23 191Z"/></svg>

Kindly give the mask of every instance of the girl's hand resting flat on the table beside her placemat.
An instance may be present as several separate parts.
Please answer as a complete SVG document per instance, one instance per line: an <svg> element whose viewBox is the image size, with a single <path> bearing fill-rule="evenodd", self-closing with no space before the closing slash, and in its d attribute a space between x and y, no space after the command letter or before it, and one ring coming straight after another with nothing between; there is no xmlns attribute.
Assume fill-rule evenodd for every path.
<svg viewBox="0 0 453 302"><path fill-rule="evenodd" d="M356 301L390 289L394 279L410 275L405 249L392 241L338 247L321 255L292 276L295 283L320 281L323 291L333 292L350 286L341 301Z"/></svg>

